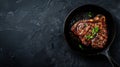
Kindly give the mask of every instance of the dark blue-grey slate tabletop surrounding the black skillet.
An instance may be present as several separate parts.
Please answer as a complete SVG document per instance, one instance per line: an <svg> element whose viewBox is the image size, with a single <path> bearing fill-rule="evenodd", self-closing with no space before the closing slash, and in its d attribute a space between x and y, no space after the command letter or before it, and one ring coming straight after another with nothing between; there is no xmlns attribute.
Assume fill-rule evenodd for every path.
<svg viewBox="0 0 120 67"><path fill-rule="evenodd" d="M0 67L111 67L104 56L74 53L64 39L65 17L85 4L115 17L110 53L120 64L120 0L0 0Z"/></svg>

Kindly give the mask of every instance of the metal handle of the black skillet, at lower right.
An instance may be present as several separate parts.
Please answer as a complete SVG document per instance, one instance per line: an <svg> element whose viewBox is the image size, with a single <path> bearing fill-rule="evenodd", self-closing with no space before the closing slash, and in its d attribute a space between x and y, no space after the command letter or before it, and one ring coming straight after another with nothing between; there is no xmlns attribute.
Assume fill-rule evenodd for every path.
<svg viewBox="0 0 120 67"><path fill-rule="evenodd" d="M108 54L109 49L105 50L101 54L106 56L112 67L120 67L119 64Z"/></svg>

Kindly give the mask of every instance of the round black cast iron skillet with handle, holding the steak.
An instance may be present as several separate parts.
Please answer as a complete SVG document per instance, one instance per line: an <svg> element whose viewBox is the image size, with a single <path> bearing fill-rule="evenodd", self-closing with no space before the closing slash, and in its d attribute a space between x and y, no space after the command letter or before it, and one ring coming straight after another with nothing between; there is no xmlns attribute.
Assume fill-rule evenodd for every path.
<svg viewBox="0 0 120 67"><path fill-rule="evenodd" d="M76 38L73 33L71 32L71 26L80 19L88 19L87 13L91 12L92 17L96 16L97 14L102 14L106 17L106 24L108 30L108 40L106 46L103 49L93 49L91 47L84 46L78 38ZM91 17L91 18L92 18ZM109 47L111 46L116 34L115 22L113 20L112 15L102 7L97 5L83 5L78 7L70 12L65 20L64 25L64 35L67 40L68 45L72 48L72 50L80 53L83 56L95 56L95 55L105 55L109 62L112 64L113 67L119 67L119 65L109 56L108 51ZM82 44L83 49L79 48L79 44Z"/></svg>

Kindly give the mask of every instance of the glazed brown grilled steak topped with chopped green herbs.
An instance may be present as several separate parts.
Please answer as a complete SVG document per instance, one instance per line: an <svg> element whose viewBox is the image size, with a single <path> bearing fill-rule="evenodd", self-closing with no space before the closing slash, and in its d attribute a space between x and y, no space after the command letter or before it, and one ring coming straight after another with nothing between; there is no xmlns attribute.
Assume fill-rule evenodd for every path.
<svg viewBox="0 0 120 67"><path fill-rule="evenodd" d="M93 48L103 48L108 38L106 19L101 14L93 19L77 21L71 27L71 31L81 40L82 44Z"/></svg>

